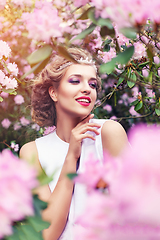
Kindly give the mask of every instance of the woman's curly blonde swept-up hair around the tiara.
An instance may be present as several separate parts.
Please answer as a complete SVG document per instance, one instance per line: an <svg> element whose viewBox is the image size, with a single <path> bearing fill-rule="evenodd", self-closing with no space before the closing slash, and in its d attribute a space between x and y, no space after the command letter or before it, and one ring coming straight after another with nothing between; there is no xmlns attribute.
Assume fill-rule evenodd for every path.
<svg viewBox="0 0 160 240"><path fill-rule="evenodd" d="M92 60L91 54L84 49L69 48L68 52L77 61L81 58ZM31 114L33 121L41 127L56 126L56 108L54 101L49 95L49 87L53 86L58 89L59 83L69 66L62 69L60 69L60 67L69 62L70 61L63 56L56 55L34 81L31 96ZM87 63L80 64L86 65ZM101 79L97 75L97 92L99 92L100 89Z"/></svg>

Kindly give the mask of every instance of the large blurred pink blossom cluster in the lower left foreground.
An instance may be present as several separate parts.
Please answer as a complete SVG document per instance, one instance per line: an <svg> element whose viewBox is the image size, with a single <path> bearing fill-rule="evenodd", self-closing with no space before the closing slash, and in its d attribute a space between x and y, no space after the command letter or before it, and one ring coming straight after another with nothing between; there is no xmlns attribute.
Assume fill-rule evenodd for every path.
<svg viewBox="0 0 160 240"><path fill-rule="evenodd" d="M10 150L0 153L0 238L12 234L12 223L33 215L36 172Z"/></svg>

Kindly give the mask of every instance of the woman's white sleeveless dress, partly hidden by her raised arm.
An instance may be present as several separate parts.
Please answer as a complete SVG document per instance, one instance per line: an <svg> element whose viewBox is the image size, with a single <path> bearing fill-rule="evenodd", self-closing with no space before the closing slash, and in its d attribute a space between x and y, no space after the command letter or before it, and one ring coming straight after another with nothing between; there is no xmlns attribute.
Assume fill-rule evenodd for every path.
<svg viewBox="0 0 160 240"><path fill-rule="evenodd" d="M101 126L105 121L106 120L104 119L90 120L90 122L96 122ZM82 142L80 164L77 171L78 173L83 171L84 162L87 161L87 159L89 159L91 155L94 156L95 160L98 159L101 162L103 160L101 128L99 128L98 131L100 132L100 134L96 136L95 136L95 133L90 132L90 134L95 136L96 138L95 141L87 138L87 139L84 139ZM68 152L69 143L66 143L63 140L61 140L57 136L56 130L54 130L52 133L46 136L36 139L35 142L38 150L39 161L42 168L45 170L48 176L51 176L53 173L55 173L53 181L50 182L49 184L49 187L52 192L57 184L63 163L65 161L65 157ZM74 194L71 201L68 222L60 237L61 240L74 239L73 227L75 226L75 220L77 216L80 215L85 208L85 198L86 198L85 186L83 186L82 184L76 183L74 187Z"/></svg>

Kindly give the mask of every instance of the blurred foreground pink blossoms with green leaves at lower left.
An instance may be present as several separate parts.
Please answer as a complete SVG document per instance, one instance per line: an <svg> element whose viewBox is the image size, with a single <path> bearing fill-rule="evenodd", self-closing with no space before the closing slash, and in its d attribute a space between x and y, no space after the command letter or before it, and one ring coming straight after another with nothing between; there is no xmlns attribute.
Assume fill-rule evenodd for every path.
<svg viewBox="0 0 160 240"><path fill-rule="evenodd" d="M39 185L36 177L36 171L10 150L0 153L0 239L42 239L40 231L49 223L40 215L46 203L32 195Z"/></svg>

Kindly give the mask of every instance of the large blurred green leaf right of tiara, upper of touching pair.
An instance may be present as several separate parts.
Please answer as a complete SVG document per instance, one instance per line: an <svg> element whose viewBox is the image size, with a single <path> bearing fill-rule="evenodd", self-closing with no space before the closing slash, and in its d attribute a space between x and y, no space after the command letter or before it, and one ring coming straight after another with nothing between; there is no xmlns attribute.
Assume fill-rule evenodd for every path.
<svg viewBox="0 0 160 240"><path fill-rule="evenodd" d="M128 47L124 52L120 52L116 57L116 62L120 64L127 64L134 53L134 46Z"/></svg>

